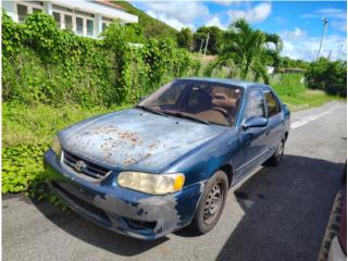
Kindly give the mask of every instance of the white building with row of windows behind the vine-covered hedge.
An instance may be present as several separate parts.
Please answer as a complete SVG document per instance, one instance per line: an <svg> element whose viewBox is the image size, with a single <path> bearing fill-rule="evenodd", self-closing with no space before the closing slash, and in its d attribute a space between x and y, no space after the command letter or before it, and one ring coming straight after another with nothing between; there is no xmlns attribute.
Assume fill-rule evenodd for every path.
<svg viewBox="0 0 348 261"><path fill-rule="evenodd" d="M115 18L125 24L138 23L138 16L103 0L2 1L2 8L17 23L23 23L27 14L45 12L54 17L60 28L88 37L98 37Z"/></svg>

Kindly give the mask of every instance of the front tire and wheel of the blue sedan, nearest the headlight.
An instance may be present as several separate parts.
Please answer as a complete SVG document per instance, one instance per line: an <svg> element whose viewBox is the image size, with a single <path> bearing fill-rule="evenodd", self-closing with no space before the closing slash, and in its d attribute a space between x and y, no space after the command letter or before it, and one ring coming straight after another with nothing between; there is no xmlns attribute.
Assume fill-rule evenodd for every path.
<svg viewBox="0 0 348 261"><path fill-rule="evenodd" d="M190 228L196 235L206 234L215 226L225 207L227 190L228 179L226 173L216 171L209 179L201 195L190 224Z"/></svg>

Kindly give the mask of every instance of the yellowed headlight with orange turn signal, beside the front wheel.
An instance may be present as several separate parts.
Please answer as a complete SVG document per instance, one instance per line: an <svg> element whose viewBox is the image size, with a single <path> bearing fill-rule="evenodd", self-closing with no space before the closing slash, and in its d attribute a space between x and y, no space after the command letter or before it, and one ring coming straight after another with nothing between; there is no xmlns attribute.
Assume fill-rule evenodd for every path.
<svg viewBox="0 0 348 261"><path fill-rule="evenodd" d="M149 174L142 172L121 172L117 176L119 186L151 195L176 192L184 186L185 175Z"/></svg>

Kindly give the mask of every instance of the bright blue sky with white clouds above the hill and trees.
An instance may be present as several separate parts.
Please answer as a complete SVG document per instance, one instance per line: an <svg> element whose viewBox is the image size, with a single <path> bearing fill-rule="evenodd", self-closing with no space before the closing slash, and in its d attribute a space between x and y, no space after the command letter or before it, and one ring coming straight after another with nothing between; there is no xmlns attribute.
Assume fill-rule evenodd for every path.
<svg viewBox="0 0 348 261"><path fill-rule="evenodd" d="M130 1L136 8L176 29L219 26L223 29L237 18L253 28L281 35L283 55L313 61L328 21L321 55L332 60L347 57L346 1Z"/></svg>

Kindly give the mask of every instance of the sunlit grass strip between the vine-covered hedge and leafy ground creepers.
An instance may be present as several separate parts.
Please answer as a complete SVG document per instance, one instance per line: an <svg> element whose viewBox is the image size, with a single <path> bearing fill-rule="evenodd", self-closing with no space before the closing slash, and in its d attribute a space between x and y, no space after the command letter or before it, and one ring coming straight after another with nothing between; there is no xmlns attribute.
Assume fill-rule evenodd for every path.
<svg viewBox="0 0 348 261"><path fill-rule="evenodd" d="M4 102L2 104L2 147L28 144L50 144L60 129L87 117L117 111L123 107L78 107L53 108L46 104L36 107Z"/></svg>

